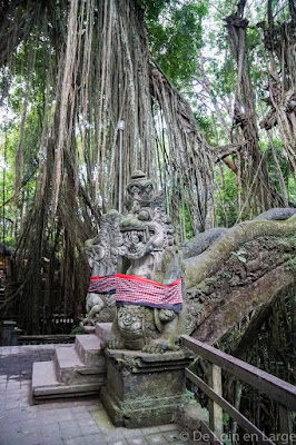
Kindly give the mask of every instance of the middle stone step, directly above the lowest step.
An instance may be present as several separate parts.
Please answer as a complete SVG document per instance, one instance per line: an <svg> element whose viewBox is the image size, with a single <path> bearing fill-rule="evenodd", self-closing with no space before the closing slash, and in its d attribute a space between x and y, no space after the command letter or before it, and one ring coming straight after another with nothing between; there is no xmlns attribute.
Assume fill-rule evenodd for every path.
<svg viewBox="0 0 296 445"><path fill-rule="evenodd" d="M97 383L99 376L106 378L106 366L86 366L78 356L75 345L58 346L55 363L57 378L61 384Z"/></svg>

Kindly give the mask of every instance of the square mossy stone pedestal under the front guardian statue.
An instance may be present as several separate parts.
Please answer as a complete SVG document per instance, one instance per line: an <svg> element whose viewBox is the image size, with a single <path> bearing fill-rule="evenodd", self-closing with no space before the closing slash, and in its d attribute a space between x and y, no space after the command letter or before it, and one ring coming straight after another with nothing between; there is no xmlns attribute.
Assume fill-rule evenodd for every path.
<svg viewBox="0 0 296 445"><path fill-rule="evenodd" d="M107 382L101 402L116 426L156 426L176 421L188 402L185 368L194 356L187 349L164 354L106 349Z"/></svg>

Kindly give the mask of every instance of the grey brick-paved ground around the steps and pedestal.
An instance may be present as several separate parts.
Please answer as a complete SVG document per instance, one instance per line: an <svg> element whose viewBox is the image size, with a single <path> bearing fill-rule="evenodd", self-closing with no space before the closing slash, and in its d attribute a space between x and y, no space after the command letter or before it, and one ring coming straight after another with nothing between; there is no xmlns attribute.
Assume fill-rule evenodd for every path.
<svg viewBox="0 0 296 445"><path fill-rule="evenodd" d="M30 405L33 362L52 345L0 347L0 445L187 445L177 425L116 428L99 399Z"/></svg>

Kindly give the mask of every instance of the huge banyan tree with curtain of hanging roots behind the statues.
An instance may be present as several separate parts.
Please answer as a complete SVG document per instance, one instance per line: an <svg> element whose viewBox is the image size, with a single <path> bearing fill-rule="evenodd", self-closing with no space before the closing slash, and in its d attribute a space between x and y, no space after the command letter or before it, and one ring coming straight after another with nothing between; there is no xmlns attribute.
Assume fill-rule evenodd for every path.
<svg viewBox="0 0 296 445"><path fill-rule="evenodd" d="M118 205L119 120L125 120L124 186L132 170L146 171L166 189L180 230L185 206L194 229L205 229L213 151L187 101L149 57L145 3L1 2L2 101L16 72L23 82L14 184L20 207L24 132L32 112L38 115L30 155L36 187L17 248L20 287L8 299L9 305L26 296L19 301L28 332L40 329L40 316L47 330L55 310L82 309L83 241L96 233L100 215Z"/></svg>

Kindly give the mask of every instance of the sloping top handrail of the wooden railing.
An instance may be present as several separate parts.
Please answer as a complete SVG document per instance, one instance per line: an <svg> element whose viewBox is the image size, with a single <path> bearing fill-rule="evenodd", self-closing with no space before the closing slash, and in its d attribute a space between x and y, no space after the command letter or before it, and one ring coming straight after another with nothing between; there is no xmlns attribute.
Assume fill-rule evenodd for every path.
<svg viewBox="0 0 296 445"><path fill-rule="evenodd" d="M262 393L267 394L288 409L296 411L296 387L294 385L188 335L181 336L181 342L185 347L191 349L197 355L221 367Z"/></svg>

